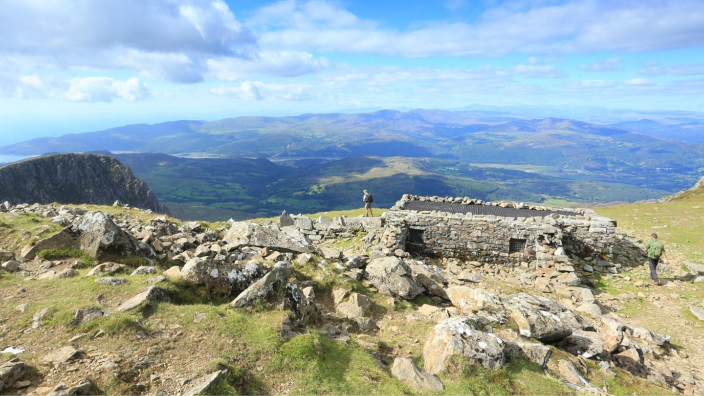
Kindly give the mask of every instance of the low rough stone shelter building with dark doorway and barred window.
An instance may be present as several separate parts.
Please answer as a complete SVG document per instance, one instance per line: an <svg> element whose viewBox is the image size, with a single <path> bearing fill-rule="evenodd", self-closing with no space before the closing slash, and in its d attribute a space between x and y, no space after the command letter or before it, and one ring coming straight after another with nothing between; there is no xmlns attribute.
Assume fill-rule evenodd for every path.
<svg viewBox="0 0 704 396"><path fill-rule="evenodd" d="M422 256L538 266L591 256L609 261L616 222L589 209L405 194L386 211L382 242Z"/></svg>

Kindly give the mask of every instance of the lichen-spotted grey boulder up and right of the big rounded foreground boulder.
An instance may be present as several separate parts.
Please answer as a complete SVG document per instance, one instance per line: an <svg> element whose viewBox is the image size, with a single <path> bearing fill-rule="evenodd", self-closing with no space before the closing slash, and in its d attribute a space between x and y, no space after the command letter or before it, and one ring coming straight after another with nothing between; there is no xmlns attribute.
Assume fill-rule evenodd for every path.
<svg viewBox="0 0 704 396"><path fill-rule="evenodd" d="M505 297L503 302L524 337L551 342L572 334L571 326L558 315L567 309L550 299L518 293Z"/></svg>

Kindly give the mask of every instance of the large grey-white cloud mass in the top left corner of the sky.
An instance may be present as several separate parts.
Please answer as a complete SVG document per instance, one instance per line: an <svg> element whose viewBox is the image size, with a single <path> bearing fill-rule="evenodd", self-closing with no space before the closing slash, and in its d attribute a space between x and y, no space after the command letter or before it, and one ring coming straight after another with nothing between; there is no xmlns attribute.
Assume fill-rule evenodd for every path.
<svg viewBox="0 0 704 396"><path fill-rule="evenodd" d="M252 33L222 0L7 0L0 35L0 57L15 59L16 75L47 77L65 70L127 70L200 82L208 58L258 51Z"/></svg>

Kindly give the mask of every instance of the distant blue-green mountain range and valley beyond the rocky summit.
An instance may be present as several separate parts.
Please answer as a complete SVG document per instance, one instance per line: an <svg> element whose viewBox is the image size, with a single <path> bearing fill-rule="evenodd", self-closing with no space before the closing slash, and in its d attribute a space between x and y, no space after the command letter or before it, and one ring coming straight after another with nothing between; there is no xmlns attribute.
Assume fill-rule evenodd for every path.
<svg viewBox="0 0 704 396"><path fill-rule="evenodd" d="M0 154L110 151L182 218L350 209L370 187L380 206L404 193L632 202L688 187L704 169L704 118L653 118L598 124L472 109L251 116L42 137Z"/></svg>

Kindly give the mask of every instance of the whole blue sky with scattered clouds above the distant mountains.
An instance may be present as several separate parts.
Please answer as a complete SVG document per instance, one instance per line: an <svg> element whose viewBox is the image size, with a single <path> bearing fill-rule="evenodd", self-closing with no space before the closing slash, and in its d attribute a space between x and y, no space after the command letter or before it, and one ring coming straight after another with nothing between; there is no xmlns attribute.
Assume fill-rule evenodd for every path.
<svg viewBox="0 0 704 396"><path fill-rule="evenodd" d="M0 144L375 108L704 109L701 0L4 0Z"/></svg>

